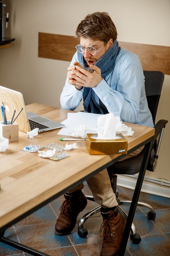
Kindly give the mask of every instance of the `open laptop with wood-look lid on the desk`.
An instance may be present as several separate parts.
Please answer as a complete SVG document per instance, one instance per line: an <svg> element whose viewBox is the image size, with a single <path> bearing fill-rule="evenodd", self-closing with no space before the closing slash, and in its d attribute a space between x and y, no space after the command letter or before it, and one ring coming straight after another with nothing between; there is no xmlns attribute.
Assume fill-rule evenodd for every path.
<svg viewBox="0 0 170 256"><path fill-rule="evenodd" d="M39 128L38 132L45 132L64 127L64 124L57 121L53 121L33 112L26 112L24 98L21 92L0 86L0 106L2 106L2 102L4 103L7 120L11 120L14 110L16 110L16 116L21 108L23 108L20 115L15 120L18 123L19 130L23 132L30 132L34 128ZM3 120L1 113L0 119Z"/></svg>

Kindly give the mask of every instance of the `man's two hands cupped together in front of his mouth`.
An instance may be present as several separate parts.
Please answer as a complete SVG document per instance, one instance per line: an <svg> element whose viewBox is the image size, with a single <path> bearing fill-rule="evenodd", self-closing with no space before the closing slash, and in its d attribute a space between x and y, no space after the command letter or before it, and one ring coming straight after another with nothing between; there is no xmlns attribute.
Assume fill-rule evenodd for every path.
<svg viewBox="0 0 170 256"><path fill-rule="evenodd" d="M75 66L68 67L68 83L74 85L77 90L81 90L82 87L94 88L101 81L101 70L95 65L90 65L90 68L94 70L93 73L81 67L78 62L73 63Z"/></svg>

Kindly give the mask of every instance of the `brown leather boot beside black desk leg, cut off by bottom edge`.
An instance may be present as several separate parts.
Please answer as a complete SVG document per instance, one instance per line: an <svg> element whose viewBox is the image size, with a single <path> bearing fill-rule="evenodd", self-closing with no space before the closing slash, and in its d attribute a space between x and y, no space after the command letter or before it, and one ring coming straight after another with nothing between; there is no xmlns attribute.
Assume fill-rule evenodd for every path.
<svg viewBox="0 0 170 256"><path fill-rule="evenodd" d="M103 224L100 229L100 234L103 229L103 243L101 256L114 256L119 252L121 238L124 233L126 218L122 216L117 207L115 211L102 213Z"/></svg>

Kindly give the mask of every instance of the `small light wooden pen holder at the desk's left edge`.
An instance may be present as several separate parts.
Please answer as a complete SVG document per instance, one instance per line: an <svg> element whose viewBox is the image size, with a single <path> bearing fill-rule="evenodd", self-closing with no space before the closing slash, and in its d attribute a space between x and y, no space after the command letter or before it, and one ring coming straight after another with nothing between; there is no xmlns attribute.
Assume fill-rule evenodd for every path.
<svg viewBox="0 0 170 256"><path fill-rule="evenodd" d="M18 140L18 124L10 124L11 121L7 121L7 124L3 123L0 122L0 136L9 139L9 142Z"/></svg>

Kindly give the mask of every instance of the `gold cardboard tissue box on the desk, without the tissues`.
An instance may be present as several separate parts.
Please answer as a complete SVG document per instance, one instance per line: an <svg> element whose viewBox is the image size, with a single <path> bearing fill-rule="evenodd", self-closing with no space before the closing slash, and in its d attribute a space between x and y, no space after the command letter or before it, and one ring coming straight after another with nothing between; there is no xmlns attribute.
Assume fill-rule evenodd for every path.
<svg viewBox="0 0 170 256"><path fill-rule="evenodd" d="M119 139L95 139L97 135L87 134L86 147L90 155L126 154L128 141L119 135Z"/></svg>

